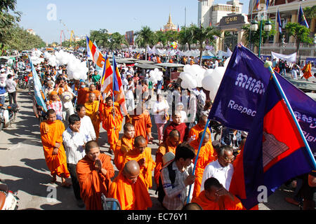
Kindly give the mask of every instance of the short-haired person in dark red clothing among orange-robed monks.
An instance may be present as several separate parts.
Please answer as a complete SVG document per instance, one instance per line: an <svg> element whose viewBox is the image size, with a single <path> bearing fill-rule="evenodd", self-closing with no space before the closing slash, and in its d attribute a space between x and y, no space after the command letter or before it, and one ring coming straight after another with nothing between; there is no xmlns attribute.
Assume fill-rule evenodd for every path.
<svg viewBox="0 0 316 224"><path fill-rule="evenodd" d="M187 125L185 125L185 123L181 123L181 118L182 116L180 111L175 111L173 113L172 122L164 130L164 141L166 141L166 138L168 137L169 133L174 129L180 132L180 141L186 141L189 129Z"/></svg>

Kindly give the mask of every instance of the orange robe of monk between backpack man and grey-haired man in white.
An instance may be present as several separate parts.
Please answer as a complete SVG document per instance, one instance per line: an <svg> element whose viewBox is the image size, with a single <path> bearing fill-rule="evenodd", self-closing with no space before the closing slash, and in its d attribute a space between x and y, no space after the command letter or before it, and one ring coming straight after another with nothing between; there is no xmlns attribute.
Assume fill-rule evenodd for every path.
<svg viewBox="0 0 316 224"><path fill-rule="evenodd" d="M197 151L199 150L199 141L195 139L191 141L190 145L195 148L195 155L197 155ZM199 158L197 158L197 166L195 167L195 188L193 189L192 197L199 195L201 191L202 177L206 165L215 160L217 160L217 153L214 151L211 141L208 141L199 150ZM195 158L193 161L195 161Z"/></svg>

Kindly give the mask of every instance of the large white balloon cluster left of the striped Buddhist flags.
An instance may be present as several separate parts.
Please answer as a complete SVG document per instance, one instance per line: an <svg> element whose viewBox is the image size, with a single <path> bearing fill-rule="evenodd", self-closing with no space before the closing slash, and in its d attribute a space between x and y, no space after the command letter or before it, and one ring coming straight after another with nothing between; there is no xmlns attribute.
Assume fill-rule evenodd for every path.
<svg viewBox="0 0 316 224"><path fill-rule="evenodd" d="M66 69L69 79L86 80L88 78L86 74L88 72L86 62L81 62L80 59L63 50L55 52L55 58L57 64L67 64Z"/></svg>

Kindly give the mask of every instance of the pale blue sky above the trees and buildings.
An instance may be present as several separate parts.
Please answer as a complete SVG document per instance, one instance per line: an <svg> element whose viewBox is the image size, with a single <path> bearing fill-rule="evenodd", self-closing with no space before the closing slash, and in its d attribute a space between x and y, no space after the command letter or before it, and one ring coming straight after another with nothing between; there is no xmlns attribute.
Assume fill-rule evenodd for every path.
<svg viewBox="0 0 316 224"><path fill-rule="evenodd" d="M244 3L243 13L248 13L249 0ZM56 6L56 20L48 20L48 4ZM226 3L226 0L215 0L214 3ZM34 31L44 41L60 41L60 31L74 30L77 36L90 34L91 30L107 29L110 33L118 31L138 31L149 26L156 31L168 22L171 13L176 26L185 24L185 7L187 8L187 25L197 24L197 0L18 0L17 10L22 12L20 26ZM66 25L62 25L60 20Z"/></svg>

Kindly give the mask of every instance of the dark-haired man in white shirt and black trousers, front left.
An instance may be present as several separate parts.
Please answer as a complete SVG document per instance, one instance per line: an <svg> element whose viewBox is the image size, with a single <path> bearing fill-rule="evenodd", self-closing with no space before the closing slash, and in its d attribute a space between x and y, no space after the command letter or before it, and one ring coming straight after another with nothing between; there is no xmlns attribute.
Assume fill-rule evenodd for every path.
<svg viewBox="0 0 316 224"><path fill-rule="evenodd" d="M78 207L84 207L84 202L80 197L80 186L77 179L76 167L79 160L84 158L86 152L84 146L86 144L86 137L80 132L81 121L77 114L69 117L69 127L62 133L62 140L65 146L67 157L67 168L72 178L72 188L74 190L74 197L77 199Z"/></svg>

